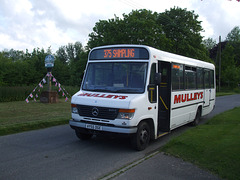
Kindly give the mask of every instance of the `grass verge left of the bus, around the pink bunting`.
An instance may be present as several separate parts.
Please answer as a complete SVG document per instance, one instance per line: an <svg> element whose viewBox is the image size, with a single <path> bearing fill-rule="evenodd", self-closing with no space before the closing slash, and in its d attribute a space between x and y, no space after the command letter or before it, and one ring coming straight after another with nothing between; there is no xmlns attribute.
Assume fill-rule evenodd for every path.
<svg viewBox="0 0 240 180"><path fill-rule="evenodd" d="M0 135L66 124L71 118L70 100L44 104L14 101L0 103Z"/></svg>

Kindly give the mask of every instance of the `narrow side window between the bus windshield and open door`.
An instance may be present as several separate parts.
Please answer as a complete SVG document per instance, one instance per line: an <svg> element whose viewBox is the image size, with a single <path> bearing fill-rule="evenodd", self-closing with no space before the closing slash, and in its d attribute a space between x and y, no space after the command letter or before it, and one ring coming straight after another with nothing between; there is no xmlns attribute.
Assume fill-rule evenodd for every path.
<svg viewBox="0 0 240 180"><path fill-rule="evenodd" d="M152 64L148 85L148 100L150 103L157 102L157 85L155 84L156 63Z"/></svg>

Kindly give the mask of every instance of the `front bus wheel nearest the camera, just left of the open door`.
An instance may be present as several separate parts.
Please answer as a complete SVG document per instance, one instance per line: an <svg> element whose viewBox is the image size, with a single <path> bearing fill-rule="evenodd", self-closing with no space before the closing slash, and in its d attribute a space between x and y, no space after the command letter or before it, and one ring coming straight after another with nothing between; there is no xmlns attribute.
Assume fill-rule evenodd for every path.
<svg viewBox="0 0 240 180"><path fill-rule="evenodd" d="M131 143L134 149L144 150L150 141L150 127L147 122L141 122L138 125L137 133L131 138Z"/></svg>

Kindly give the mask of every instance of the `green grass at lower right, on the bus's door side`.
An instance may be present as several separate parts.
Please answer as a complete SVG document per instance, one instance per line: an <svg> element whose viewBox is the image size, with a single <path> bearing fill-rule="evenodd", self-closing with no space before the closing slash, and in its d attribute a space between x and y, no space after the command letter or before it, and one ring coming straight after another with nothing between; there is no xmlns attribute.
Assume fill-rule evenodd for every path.
<svg viewBox="0 0 240 180"><path fill-rule="evenodd" d="M224 179L240 179L240 107L172 139L162 149Z"/></svg>

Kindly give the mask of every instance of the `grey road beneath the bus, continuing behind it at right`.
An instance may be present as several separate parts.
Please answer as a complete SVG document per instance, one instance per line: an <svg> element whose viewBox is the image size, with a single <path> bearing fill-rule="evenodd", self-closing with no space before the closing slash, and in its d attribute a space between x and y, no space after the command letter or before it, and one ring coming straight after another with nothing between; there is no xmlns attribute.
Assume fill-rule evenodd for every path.
<svg viewBox="0 0 240 180"><path fill-rule="evenodd" d="M218 97L203 118L240 106L240 95ZM68 125L0 137L0 179L99 179L154 152L189 126L155 140L141 152L127 139L95 137L80 141Z"/></svg>

